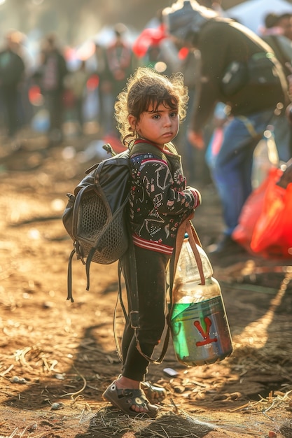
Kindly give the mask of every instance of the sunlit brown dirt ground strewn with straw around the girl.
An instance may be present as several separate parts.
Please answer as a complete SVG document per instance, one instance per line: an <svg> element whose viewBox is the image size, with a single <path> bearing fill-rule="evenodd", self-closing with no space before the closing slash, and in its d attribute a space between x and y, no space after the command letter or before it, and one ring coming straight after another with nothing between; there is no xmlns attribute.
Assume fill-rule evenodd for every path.
<svg viewBox="0 0 292 438"><path fill-rule="evenodd" d="M149 367L148 379L167 390L158 418L133 420L102 400L120 373L117 266L92 264L87 291L74 260L75 302L67 301L71 241L61 221L66 193L92 164L81 154L92 139L48 148L25 133L20 148L1 142L1 438L292 437L291 260L247 253L211 260L232 355L188 368L170 341L164 362ZM211 185L200 189L194 224L207 246L221 230L221 207ZM118 336L122 323L118 309Z"/></svg>

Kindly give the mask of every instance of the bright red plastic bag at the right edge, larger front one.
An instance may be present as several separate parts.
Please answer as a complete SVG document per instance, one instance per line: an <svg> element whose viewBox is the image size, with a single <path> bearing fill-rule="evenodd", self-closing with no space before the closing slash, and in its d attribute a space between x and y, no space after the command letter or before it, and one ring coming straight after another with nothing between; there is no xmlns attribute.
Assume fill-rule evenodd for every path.
<svg viewBox="0 0 292 438"><path fill-rule="evenodd" d="M279 179L279 178L278 178ZM287 188L271 178L256 222L251 249L266 257L292 257L292 183Z"/></svg>

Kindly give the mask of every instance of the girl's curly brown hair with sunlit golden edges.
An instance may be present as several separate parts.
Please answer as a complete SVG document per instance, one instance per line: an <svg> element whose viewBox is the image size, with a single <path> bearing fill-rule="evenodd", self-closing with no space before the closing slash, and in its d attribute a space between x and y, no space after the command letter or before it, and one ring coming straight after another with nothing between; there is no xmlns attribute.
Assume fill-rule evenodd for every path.
<svg viewBox="0 0 292 438"><path fill-rule="evenodd" d="M127 86L118 94L115 118L124 145L137 139L137 132L130 127L128 116L134 115L137 122L149 106L156 111L160 104L178 111L180 122L186 118L188 88L183 84L183 74L167 77L148 67L139 67L127 80Z"/></svg>

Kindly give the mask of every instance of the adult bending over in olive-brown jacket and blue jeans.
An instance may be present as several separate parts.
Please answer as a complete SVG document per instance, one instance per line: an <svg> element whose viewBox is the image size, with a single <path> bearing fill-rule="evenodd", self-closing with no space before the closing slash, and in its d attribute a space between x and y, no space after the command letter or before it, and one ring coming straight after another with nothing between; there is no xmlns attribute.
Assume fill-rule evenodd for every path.
<svg viewBox="0 0 292 438"><path fill-rule="evenodd" d="M281 64L267 57L270 47L234 20L219 17L197 1L177 1L163 11L169 34L200 50L200 90L196 93L193 121L188 138L198 148L204 148L202 129L218 102L229 108L230 120L224 127L223 141L216 156L212 178L223 206L225 229L209 253L221 255L242 250L232 239L242 206L251 194L253 150L267 125L288 105L288 88ZM239 86L226 89L232 66L246 65L252 55L267 59L265 74L255 73L255 82L248 76L239 78ZM235 62L235 64L234 64ZM228 76L226 77L226 72ZM237 70L238 71L238 70ZM227 79L226 79L227 78ZM224 79L224 80L223 80ZM237 84L238 85L238 84ZM277 143L277 130L274 131Z"/></svg>

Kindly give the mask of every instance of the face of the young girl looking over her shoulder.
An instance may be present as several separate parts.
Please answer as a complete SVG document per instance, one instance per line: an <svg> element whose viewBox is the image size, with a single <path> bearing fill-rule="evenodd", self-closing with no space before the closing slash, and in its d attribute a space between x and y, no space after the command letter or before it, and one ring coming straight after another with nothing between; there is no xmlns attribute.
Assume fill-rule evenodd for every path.
<svg viewBox="0 0 292 438"><path fill-rule="evenodd" d="M163 104L160 104L155 111L151 105L148 111L141 113L138 122L130 115L129 122L132 129L136 129L139 137L155 143L160 148L172 141L179 132L179 114Z"/></svg>

